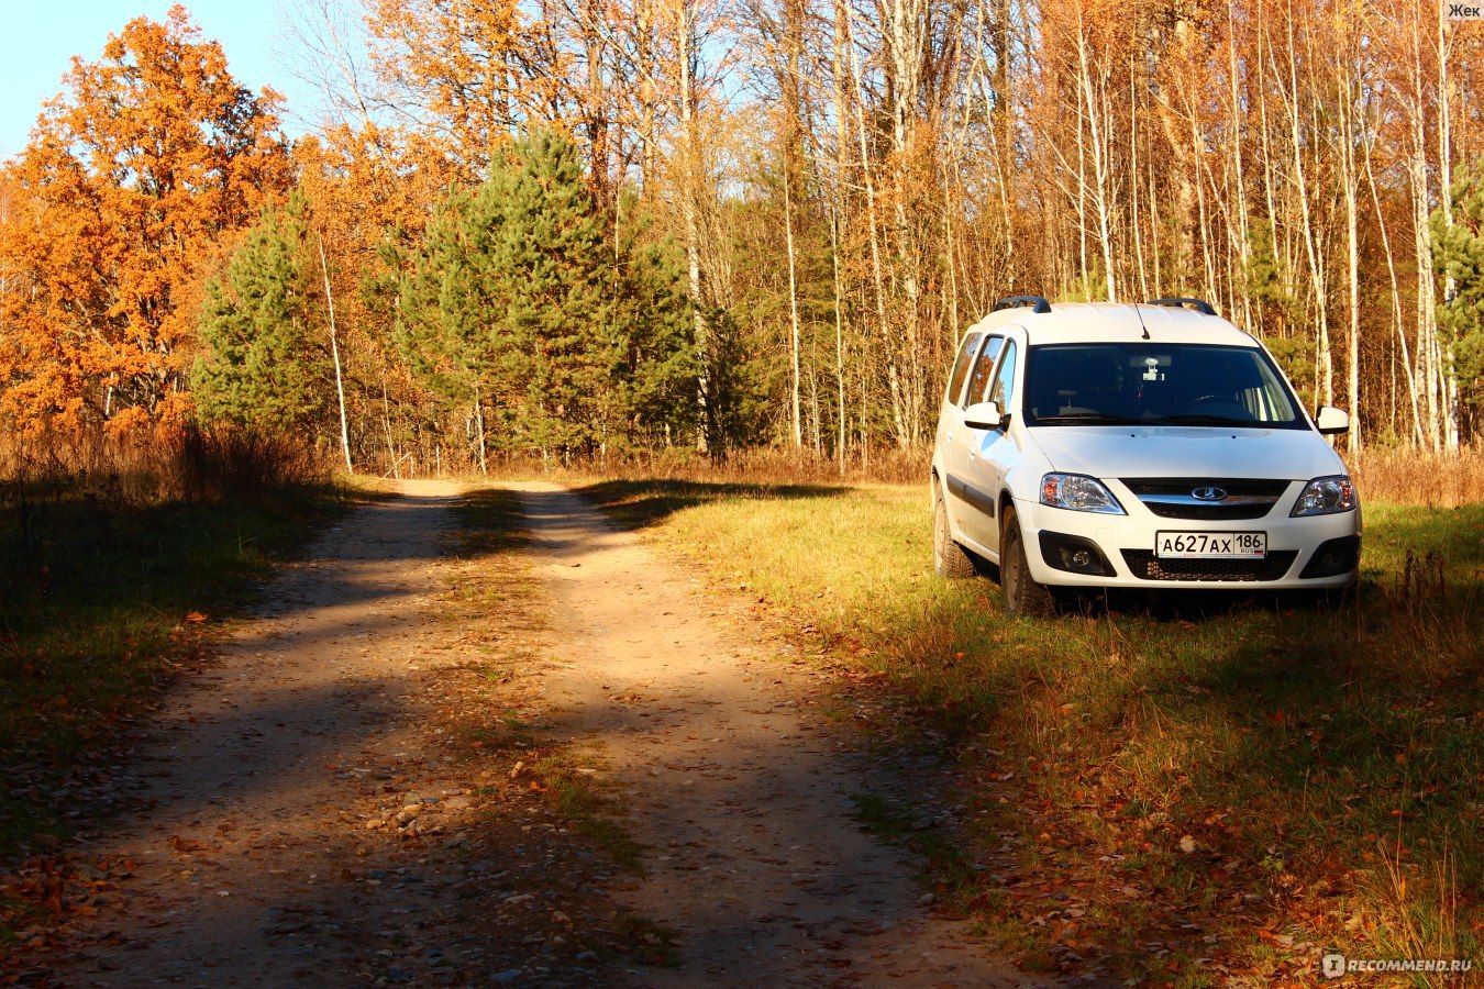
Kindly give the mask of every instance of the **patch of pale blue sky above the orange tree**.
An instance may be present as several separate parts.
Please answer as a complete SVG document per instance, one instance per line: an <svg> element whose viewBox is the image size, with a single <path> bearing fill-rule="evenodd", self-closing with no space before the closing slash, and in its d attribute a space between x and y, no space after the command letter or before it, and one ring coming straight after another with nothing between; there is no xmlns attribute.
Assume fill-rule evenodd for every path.
<svg viewBox="0 0 1484 989"><path fill-rule="evenodd" d="M73 55L95 61L104 42L137 16L163 21L172 0L25 0L7 4L0 33L0 160L25 147L42 101L62 89ZM291 1L291 0L285 0ZM227 65L243 86L272 85L286 110L310 113L318 95L288 68L286 16L263 0L188 0L186 9L208 39L221 42ZM292 117L285 129L303 125Z"/></svg>

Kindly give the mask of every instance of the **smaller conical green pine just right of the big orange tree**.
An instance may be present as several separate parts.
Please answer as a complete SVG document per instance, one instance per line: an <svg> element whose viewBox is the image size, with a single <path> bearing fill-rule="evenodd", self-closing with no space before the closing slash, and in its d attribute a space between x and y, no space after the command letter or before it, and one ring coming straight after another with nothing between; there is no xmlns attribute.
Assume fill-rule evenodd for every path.
<svg viewBox="0 0 1484 989"><path fill-rule="evenodd" d="M297 191L267 209L221 277L206 285L200 335L206 353L191 384L200 417L269 431L324 420L329 357Z"/></svg>

